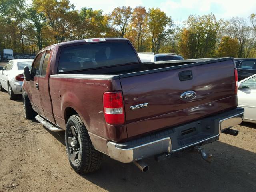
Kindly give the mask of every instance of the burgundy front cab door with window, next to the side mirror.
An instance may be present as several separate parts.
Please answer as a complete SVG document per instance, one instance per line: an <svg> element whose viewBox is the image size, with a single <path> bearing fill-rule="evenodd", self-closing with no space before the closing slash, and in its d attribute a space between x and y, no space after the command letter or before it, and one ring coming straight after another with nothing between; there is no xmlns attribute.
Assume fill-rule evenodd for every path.
<svg viewBox="0 0 256 192"><path fill-rule="evenodd" d="M28 82L29 94L30 94L30 102L34 111L36 111L41 116L45 117L44 111L42 110L42 100L39 92L39 77L41 74L40 66L42 66L42 62L44 59L44 53L38 54L35 58L32 67L31 67L31 80Z"/></svg>

